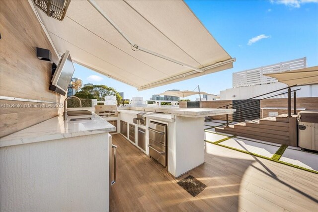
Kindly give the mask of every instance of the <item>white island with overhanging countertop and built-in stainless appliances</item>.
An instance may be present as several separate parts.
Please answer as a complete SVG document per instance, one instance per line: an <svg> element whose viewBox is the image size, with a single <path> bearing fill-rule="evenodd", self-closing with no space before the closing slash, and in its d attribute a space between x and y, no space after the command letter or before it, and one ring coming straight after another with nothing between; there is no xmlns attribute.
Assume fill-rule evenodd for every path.
<svg viewBox="0 0 318 212"><path fill-rule="evenodd" d="M168 172L178 177L204 163L204 117L233 114L235 109L118 107L118 112L120 120L127 123L127 126L136 126L134 132L126 130L128 132L124 134L126 139L147 155L150 155L151 148L150 123L167 126L167 151L160 153L166 154ZM144 125L133 123L139 113L143 113L146 117ZM143 147L139 146L138 136L135 136L138 133L137 128L144 129L146 133ZM129 135L130 132L134 135L134 139Z"/></svg>

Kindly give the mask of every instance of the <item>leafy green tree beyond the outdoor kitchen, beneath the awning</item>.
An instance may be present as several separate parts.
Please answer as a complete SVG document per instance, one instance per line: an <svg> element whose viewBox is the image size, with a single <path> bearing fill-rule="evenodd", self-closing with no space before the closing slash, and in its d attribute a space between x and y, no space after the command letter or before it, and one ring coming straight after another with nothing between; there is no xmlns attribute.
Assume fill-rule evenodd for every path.
<svg viewBox="0 0 318 212"><path fill-rule="evenodd" d="M112 87L106 85L87 85L81 88L75 96L81 99L97 99L97 101L105 101L105 96L116 96L117 104L122 101L122 97Z"/></svg>

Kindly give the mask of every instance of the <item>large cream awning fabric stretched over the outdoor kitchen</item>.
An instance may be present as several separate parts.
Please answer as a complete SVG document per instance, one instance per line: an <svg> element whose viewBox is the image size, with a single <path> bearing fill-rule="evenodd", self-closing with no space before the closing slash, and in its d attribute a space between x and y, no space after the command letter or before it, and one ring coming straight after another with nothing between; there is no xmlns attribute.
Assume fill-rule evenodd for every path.
<svg viewBox="0 0 318 212"><path fill-rule="evenodd" d="M36 7L58 53L69 50L80 65L138 90L233 68L235 59L184 1L93 2L141 48L131 46L89 1L72 0L63 21L48 17ZM142 48L188 66L141 51Z"/></svg>

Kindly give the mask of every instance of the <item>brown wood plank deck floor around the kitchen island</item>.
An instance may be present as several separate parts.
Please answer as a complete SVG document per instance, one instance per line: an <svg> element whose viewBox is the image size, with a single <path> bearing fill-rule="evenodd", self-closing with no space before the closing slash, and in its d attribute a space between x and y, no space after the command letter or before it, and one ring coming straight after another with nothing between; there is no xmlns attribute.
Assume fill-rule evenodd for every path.
<svg viewBox="0 0 318 212"><path fill-rule="evenodd" d="M191 174L208 187L196 197L121 135L110 211L318 211L318 175L206 143L205 163Z"/></svg>

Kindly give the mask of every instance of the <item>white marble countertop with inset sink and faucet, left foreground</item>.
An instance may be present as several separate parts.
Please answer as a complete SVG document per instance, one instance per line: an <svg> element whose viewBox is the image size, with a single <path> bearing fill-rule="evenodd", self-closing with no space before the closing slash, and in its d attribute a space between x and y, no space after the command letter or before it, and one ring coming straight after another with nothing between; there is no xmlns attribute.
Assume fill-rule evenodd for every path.
<svg viewBox="0 0 318 212"><path fill-rule="evenodd" d="M70 119L86 117L90 117L91 120L70 121ZM113 125L95 113L85 116L69 116L67 121L63 120L63 116L56 116L1 138L0 147L93 135L114 130Z"/></svg>

